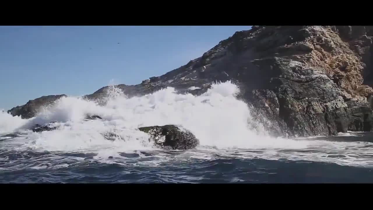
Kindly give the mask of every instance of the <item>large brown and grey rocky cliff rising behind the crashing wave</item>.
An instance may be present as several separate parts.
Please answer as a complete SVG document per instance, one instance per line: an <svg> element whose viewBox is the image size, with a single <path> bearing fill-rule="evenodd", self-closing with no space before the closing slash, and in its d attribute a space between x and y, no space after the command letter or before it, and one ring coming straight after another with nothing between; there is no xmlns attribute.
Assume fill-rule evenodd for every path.
<svg viewBox="0 0 373 210"><path fill-rule="evenodd" d="M272 135L370 131L372 36L371 26L254 26L178 69L116 87L129 97L167 86L198 95L211 82L231 80ZM100 101L108 88L84 98ZM31 117L26 105L8 112Z"/></svg>

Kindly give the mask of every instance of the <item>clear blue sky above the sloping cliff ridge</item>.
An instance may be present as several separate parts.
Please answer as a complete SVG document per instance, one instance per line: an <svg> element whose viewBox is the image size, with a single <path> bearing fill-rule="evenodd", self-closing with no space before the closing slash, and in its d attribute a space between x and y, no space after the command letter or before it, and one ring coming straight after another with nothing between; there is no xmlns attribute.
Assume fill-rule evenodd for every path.
<svg viewBox="0 0 373 210"><path fill-rule="evenodd" d="M0 26L0 109L138 84L251 26ZM120 44L117 44L119 43Z"/></svg>

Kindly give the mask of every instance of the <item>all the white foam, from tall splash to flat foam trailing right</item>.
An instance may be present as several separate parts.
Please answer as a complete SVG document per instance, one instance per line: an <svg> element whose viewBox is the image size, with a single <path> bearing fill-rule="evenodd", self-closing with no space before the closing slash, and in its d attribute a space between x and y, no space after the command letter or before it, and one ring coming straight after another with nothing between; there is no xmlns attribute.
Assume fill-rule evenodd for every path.
<svg viewBox="0 0 373 210"><path fill-rule="evenodd" d="M295 140L258 134L248 127L248 122L253 123L250 109L235 98L238 91L234 84L226 82L213 84L200 96L176 94L173 88L168 87L150 95L127 98L112 86L104 106L77 97L66 97L28 120L0 113L0 135L51 121L57 121L55 126L58 126L53 131L26 132L1 144L3 148L18 150L94 152L96 159L109 163L112 162L108 159L110 156L124 158L119 155L120 152L156 150L148 142L148 135L139 131L138 127L176 124L190 130L200 140L196 150L186 152L182 157L211 158L211 154L219 153L267 159L372 164L369 158L356 158L359 152L372 154L369 148L361 147L360 142ZM99 115L103 120L84 121L87 114ZM116 133L119 137L115 141L107 140L103 136L107 132ZM364 143L364 146L366 144L371 143ZM336 158L327 155L336 152L347 156ZM349 154L357 155L350 158ZM159 161L168 160L165 157L160 155Z"/></svg>

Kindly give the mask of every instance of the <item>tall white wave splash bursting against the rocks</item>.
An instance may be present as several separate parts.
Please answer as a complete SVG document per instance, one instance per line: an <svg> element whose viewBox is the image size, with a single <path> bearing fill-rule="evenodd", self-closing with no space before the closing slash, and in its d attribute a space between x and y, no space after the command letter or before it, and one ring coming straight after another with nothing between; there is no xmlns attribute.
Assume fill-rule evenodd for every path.
<svg viewBox="0 0 373 210"><path fill-rule="evenodd" d="M108 141L101 135L104 132L115 131L127 142L136 142L136 139L146 137L137 130L138 127L165 124L181 125L194 133L201 145L205 146L252 148L274 143L269 137L257 141L258 136L248 130L250 110L244 102L235 98L239 89L231 82L213 84L200 96L179 95L171 87L133 98L127 98L115 86L109 86L107 91L104 106L76 97L64 97L52 108L41 111L29 120L2 114L1 132L15 132L30 129L35 124L57 121L59 129L33 134L36 141L34 147L49 144L62 151L66 146L73 149L74 146L107 145ZM86 115L99 115L103 121L84 121Z"/></svg>

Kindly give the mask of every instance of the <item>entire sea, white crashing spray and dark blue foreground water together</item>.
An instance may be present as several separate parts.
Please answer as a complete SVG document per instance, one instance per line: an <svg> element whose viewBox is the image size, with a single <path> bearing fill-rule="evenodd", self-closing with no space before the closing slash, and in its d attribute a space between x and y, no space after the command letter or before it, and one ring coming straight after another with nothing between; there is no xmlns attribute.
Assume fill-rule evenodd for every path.
<svg viewBox="0 0 373 210"><path fill-rule="evenodd" d="M373 183L373 133L272 138L238 91L226 82L201 96L167 88L127 98L112 87L103 106L66 97L27 120L2 112L0 182ZM49 122L58 128L30 130ZM137 129L165 124L190 130L200 145L165 151ZM118 137L105 139L107 132Z"/></svg>

